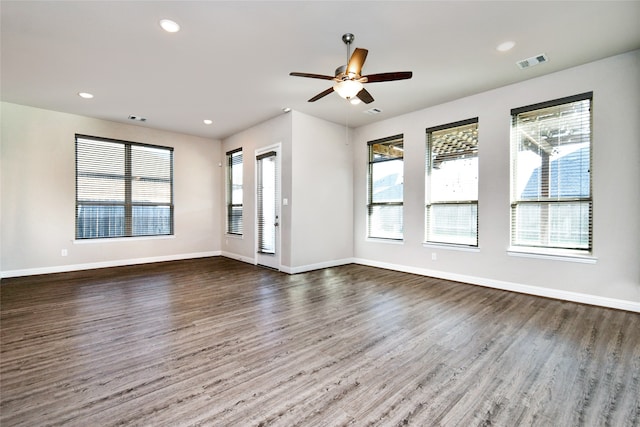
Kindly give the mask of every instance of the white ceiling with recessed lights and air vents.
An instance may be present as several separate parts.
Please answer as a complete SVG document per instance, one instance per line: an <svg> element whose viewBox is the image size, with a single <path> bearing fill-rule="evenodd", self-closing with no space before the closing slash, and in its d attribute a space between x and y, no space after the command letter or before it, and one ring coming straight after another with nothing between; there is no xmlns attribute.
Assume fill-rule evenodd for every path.
<svg viewBox="0 0 640 427"><path fill-rule="evenodd" d="M356 127L640 48L640 1L3 0L0 12L3 101L216 139L283 107ZM331 82L289 72L333 75L346 32L369 50L364 75L413 78L366 85L369 105L308 103ZM548 63L516 66L541 53Z"/></svg>

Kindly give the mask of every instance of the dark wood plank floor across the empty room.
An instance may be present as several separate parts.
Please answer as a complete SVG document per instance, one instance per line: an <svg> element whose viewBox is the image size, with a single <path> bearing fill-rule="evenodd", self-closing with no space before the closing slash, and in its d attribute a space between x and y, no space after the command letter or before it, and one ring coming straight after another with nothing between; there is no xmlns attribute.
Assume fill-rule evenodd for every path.
<svg viewBox="0 0 640 427"><path fill-rule="evenodd" d="M0 290L3 427L640 423L635 313L221 257Z"/></svg>

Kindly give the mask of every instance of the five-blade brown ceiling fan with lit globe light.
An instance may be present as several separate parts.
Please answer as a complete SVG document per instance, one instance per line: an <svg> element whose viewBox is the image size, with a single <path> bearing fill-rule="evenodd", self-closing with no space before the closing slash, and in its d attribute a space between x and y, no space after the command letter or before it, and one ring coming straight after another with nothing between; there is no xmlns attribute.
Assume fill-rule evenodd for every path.
<svg viewBox="0 0 640 427"><path fill-rule="evenodd" d="M309 102L315 102L318 99L329 95L331 92L338 92L338 95L344 99L351 101L352 104L357 104L360 101L365 104L373 102L373 96L364 88L364 83L378 83L389 82L393 80L406 80L410 79L413 73L411 71L395 71L391 73L379 73L363 76L362 66L367 58L367 49L360 49L357 47L353 51L353 55L349 56L350 46L355 36L351 33L344 34L342 41L347 45L347 65L341 65L336 68L335 76L325 76L322 74L311 73L289 73L290 76L296 77L309 77L312 79L333 80L335 83L329 89L320 92Z"/></svg>

